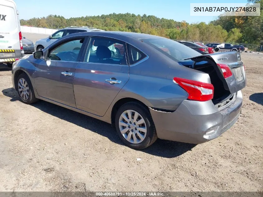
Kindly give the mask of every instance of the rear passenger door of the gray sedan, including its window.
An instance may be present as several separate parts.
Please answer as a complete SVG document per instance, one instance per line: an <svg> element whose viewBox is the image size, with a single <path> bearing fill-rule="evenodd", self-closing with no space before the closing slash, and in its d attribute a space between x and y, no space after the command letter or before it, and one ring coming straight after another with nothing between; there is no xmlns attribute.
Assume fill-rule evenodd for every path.
<svg viewBox="0 0 263 197"><path fill-rule="evenodd" d="M129 80L126 47L120 40L99 37L92 37L89 43L84 61L75 71L75 101L78 109L103 116Z"/></svg>

